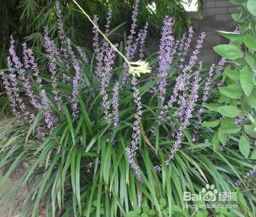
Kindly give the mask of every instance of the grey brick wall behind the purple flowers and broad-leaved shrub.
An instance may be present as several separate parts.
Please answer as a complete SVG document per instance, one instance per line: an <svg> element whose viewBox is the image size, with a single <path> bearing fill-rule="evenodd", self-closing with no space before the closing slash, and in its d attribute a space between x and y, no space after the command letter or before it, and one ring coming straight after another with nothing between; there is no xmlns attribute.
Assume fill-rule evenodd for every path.
<svg viewBox="0 0 256 217"><path fill-rule="evenodd" d="M220 37L215 31L234 31L236 24L232 20L231 14L235 11L237 11L237 7L231 4L229 0L204 0L202 19L195 19L194 24L197 34L202 31L207 34L200 53L200 59L205 63L210 64L220 59L212 47L217 44L226 44L229 41Z"/></svg>

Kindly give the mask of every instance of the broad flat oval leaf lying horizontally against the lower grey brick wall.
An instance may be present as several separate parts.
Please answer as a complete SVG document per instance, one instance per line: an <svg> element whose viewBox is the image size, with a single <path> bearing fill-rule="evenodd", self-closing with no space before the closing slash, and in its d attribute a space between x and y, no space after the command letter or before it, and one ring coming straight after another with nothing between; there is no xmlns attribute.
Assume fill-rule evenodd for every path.
<svg viewBox="0 0 256 217"><path fill-rule="evenodd" d="M219 46L214 47L214 51L222 57L231 60L239 59L244 55L244 52L242 52L239 47L232 44L220 44Z"/></svg>

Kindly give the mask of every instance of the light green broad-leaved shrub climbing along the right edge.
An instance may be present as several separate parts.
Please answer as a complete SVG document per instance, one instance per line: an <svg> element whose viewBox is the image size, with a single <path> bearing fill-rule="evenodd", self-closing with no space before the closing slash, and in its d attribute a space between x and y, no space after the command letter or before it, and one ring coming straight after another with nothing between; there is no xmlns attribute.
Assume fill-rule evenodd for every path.
<svg viewBox="0 0 256 217"><path fill-rule="evenodd" d="M227 62L224 72L220 74L220 98L218 104L208 108L222 115L222 120L213 120L219 129L215 131L213 144L215 150L219 145L236 143L236 147L245 158L256 160L255 145L255 75L256 75L256 1L233 1L240 5L240 12L232 14L239 22L235 32L219 31L219 34L230 39L229 44L214 47ZM248 177L247 177L248 176ZM247 177L247 178L246 178ZM255 188L255 165L244 180L237 185Z"/></svg>

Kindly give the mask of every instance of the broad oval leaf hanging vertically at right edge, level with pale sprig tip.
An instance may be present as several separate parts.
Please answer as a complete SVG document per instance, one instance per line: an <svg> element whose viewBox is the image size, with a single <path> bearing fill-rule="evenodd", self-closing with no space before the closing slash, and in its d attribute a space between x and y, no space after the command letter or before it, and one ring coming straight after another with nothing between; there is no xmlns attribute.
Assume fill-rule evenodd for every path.
<svg viewBox="0 0 256 217"><path fill-rule="evenodd" d="M240 84L247 97L252 93L252 90L254 89L254 82L254 73L250 69L244 67L240 72Z"/></svg>

